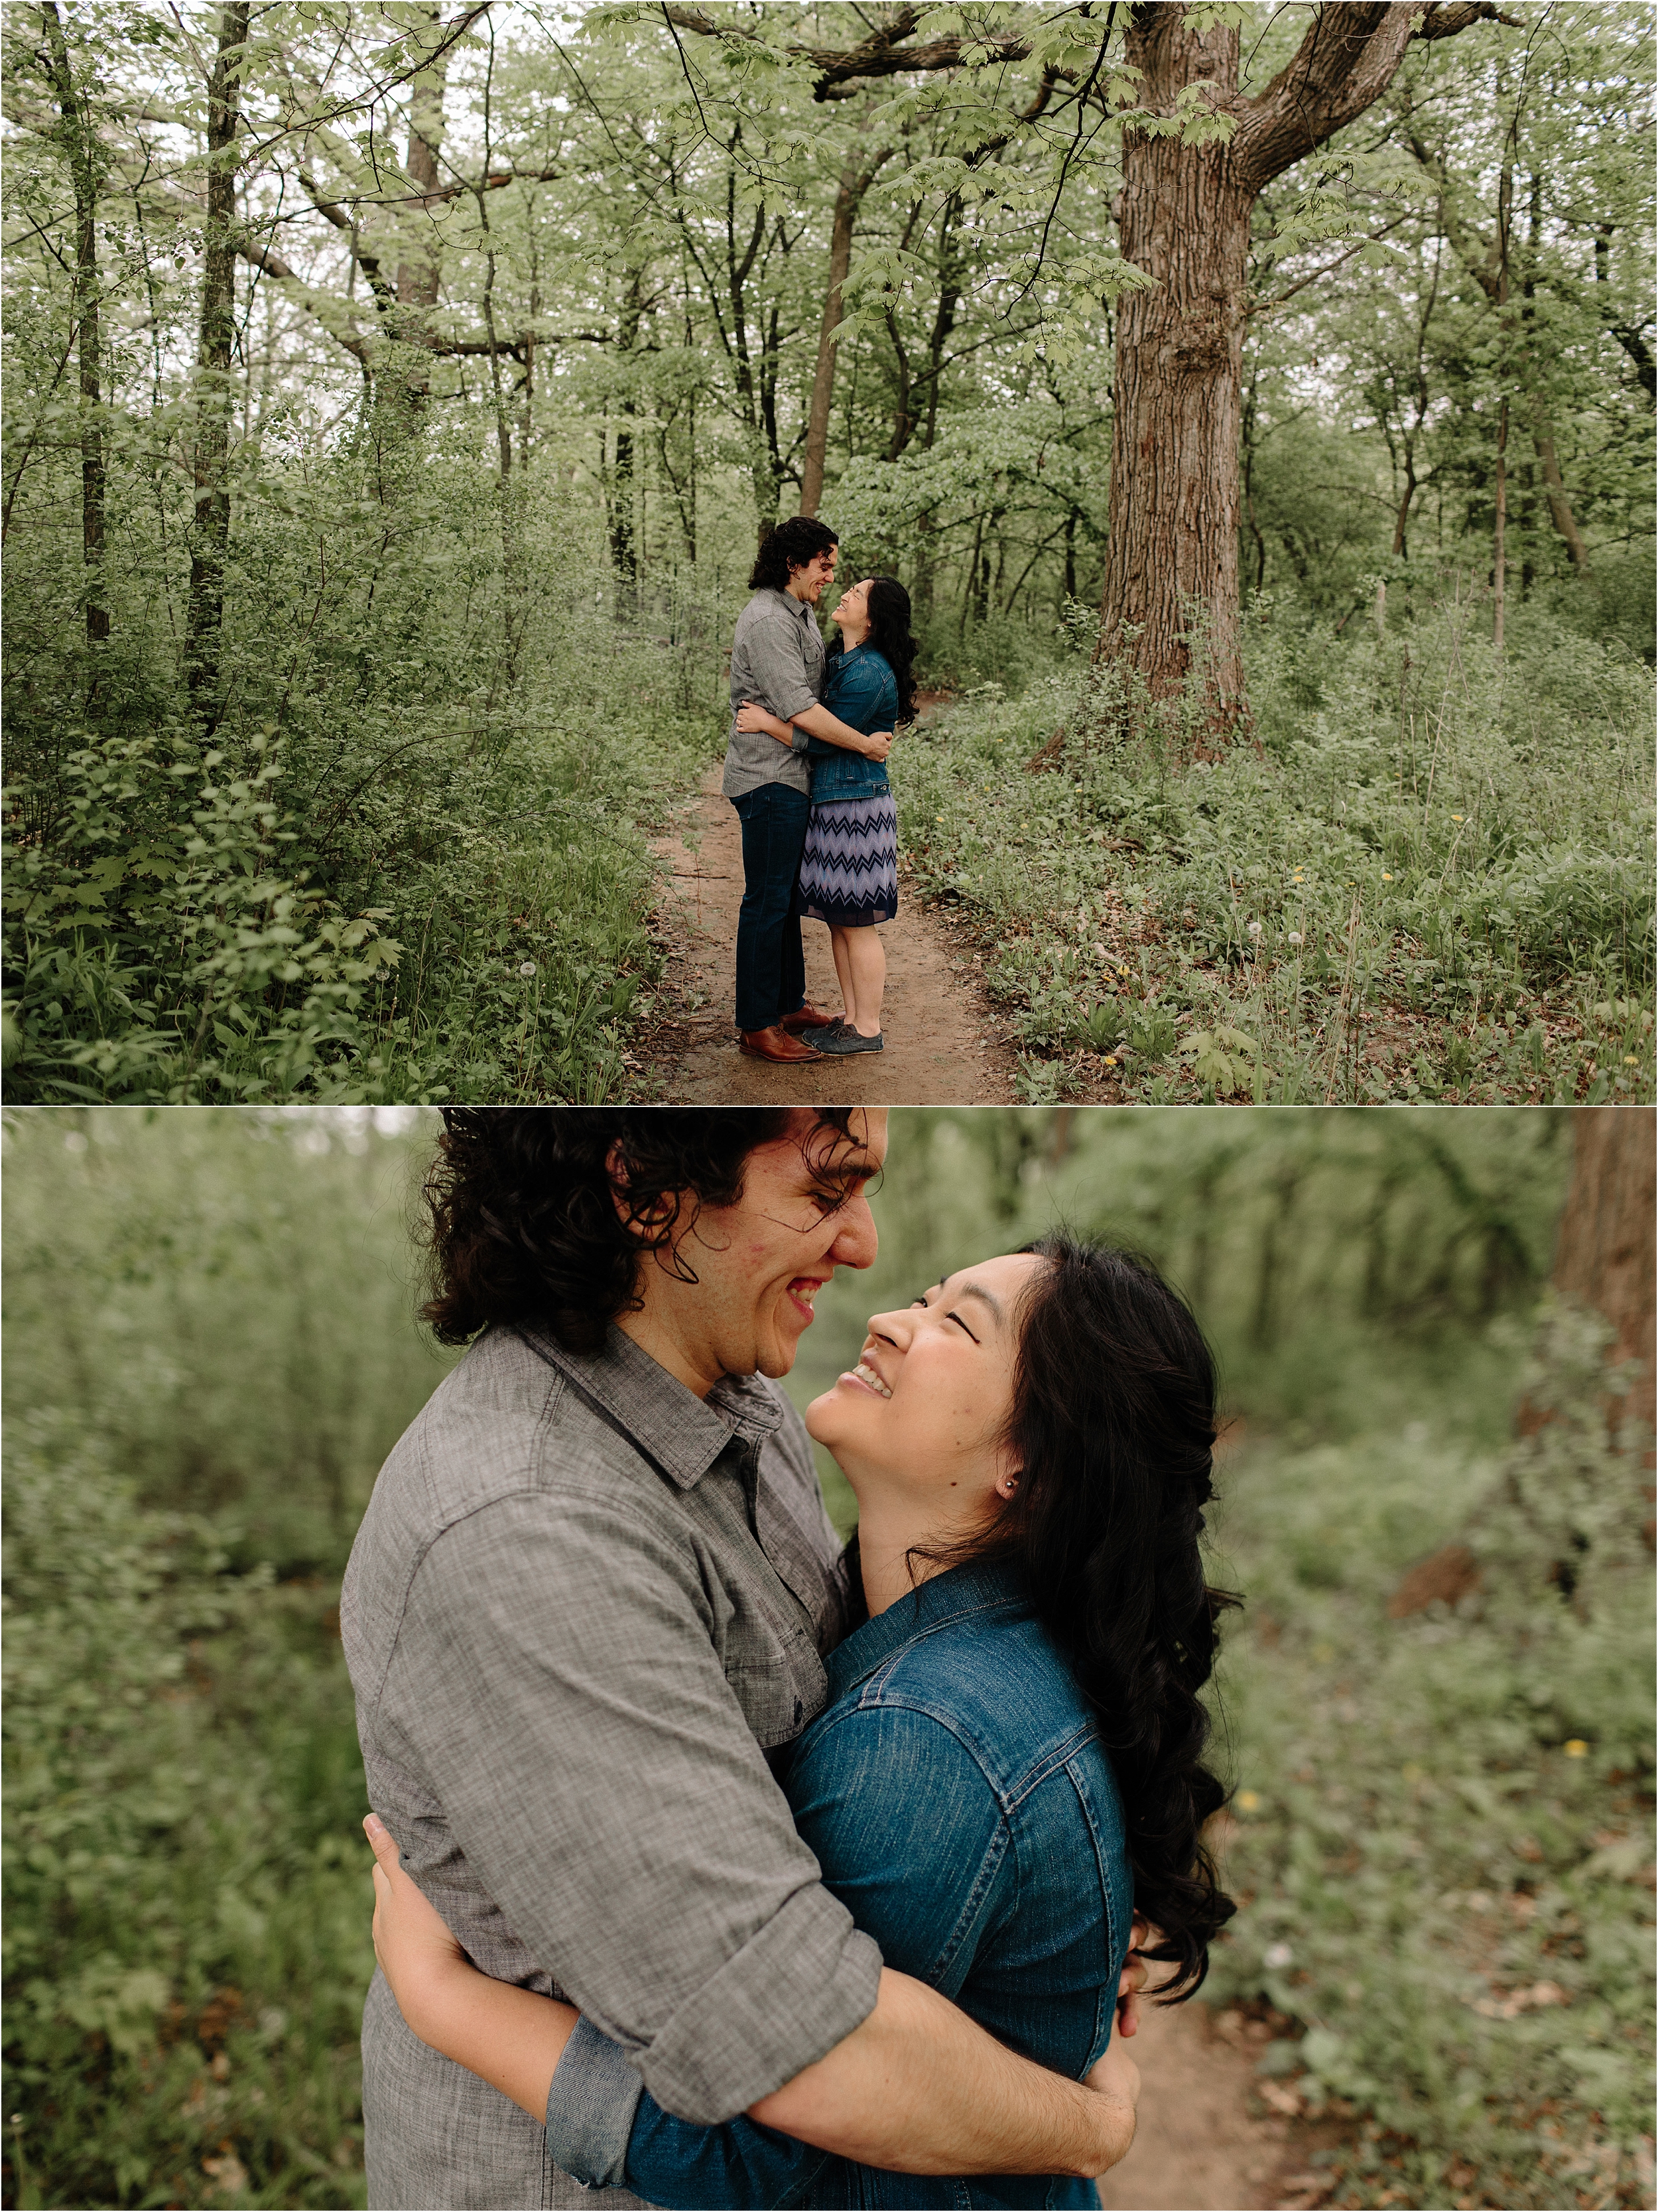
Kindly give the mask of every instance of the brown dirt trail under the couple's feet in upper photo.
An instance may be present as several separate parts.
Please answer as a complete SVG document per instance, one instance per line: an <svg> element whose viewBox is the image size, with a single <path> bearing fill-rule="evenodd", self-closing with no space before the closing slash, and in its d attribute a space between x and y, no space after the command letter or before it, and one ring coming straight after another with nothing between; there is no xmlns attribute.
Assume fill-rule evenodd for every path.
<svg viewBox="0 0 1658 2212"><path fill-rule="evenodd" d="M732 1022L732 949L743 898L743 841L736 810L721 796L721 770L674 836L654 852L672 872L657 909L668 949L663 1015L650 1037L650 1062L668 1099L685 1104L769 1106L1006 1106L1012 1104L1015 1055L970 964L922 914L902 878L898 916L882 927L886 945L886 1048L849 1060L778 1068L736 1048ZM696 849L692 849L696 847ZM840 1009L829 931L805 922L807 998Z"/></svg>

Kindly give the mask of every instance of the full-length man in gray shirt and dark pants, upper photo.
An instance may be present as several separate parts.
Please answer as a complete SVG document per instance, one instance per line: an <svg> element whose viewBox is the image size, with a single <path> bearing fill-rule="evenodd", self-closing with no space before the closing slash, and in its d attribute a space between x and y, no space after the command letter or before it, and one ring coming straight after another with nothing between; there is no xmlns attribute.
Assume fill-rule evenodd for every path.
<svg viewBox="0 0 1658 2212"><path fill-rule="evenodd" d="M822 630L814 606L836 573L838 538L814 515L791 515L767 531L754 562L754 597L732 639L732 737L721 790L743 823L743 905L736 916L736 1026L752 1060L794 1066L820 1060L802 1029L829 1022L807 1004L807 967L794 887L807 843L811 770L807 739L827 737L871 759L886 759L891 732L864 737L820 703ZM763 730L738 730L736 710L767 708L794 723L794 745Z"/></svg>

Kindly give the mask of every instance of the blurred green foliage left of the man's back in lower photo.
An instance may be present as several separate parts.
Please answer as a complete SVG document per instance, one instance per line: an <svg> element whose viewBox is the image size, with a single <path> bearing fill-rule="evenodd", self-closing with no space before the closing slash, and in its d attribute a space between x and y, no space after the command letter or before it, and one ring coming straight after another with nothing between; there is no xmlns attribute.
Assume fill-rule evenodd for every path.
<svg viewBox="0 0 1658 2212"><path fill-rule="evenodd" d="M9 1117L9 2205L365 2201L338 1584L449 1365L382 1119Z"/></svg>

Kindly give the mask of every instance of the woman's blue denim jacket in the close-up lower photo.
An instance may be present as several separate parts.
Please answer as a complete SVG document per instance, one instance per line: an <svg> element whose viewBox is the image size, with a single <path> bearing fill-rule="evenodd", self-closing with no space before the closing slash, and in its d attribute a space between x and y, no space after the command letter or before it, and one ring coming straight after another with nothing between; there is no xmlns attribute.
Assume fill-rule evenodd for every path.
<svg viewBox="0 0 1658 2212"><path fill-rule="evenodd" d="M1001 1568L924 1582L829 1655L780 1774L825 1885L900 1973L1081 2079L1116 2017L1134 1887L1112 1765ZM626 2183L654 2205L1096 2205L1052 2174L893 2174L641 2097Z"/></svg>

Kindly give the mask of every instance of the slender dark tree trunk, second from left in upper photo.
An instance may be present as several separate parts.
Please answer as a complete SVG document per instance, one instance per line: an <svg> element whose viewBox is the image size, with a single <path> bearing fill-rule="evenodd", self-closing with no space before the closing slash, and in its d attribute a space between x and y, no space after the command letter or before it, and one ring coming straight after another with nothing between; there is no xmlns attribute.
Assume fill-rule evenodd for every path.
<svg viewBox="0 0 1658 2212"><path fill-rule="evenodd" d="M190 613L183 659L190 699L212 719L230 549L230 363L237 343L237 124L248 0L219 11L219 53L208 86L208 221L201 234L201 345L197 354L197 522L190 546Z"/></svg>

